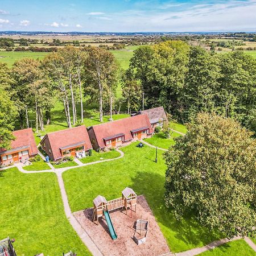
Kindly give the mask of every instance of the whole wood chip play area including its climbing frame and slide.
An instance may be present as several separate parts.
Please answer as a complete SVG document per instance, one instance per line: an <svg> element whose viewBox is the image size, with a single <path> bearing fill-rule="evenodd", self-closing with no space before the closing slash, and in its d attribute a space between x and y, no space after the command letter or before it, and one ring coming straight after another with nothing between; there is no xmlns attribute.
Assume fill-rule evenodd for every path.
<svg viewBox="0 0 256 256"><path fill-rule="evenodd" d="M170 252L144 196L130 188L122 197L93 200L94 208L73 213L104 255L161 255Z"/></svg>

